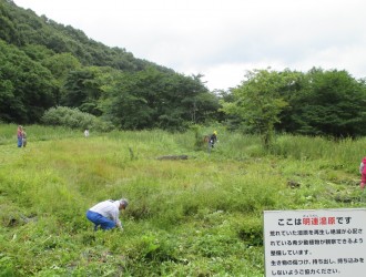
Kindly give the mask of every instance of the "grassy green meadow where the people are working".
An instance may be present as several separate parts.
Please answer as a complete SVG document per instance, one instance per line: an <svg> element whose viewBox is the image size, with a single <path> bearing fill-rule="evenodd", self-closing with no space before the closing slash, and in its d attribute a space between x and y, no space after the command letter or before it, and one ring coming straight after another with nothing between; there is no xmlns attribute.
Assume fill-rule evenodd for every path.
<svg viewBox="0 0 366 277"><path fill-rule="evenodd" d="M0 276L264 276L263 211L365 207L365 138L0 124ZM186 160L162 156L186 155ZM124 230L85 212L126 197Z"/></svg>

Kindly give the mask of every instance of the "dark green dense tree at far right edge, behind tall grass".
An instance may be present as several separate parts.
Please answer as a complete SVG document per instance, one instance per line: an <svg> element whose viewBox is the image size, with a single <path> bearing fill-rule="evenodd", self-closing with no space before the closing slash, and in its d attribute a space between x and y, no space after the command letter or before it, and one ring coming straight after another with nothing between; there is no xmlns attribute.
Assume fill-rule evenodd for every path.
<svg viewBox="0 0 366 277"><path fill-rule="evenodd" d="M307 135L334 137L365 135L366 86L346 71L309 70L302 89L289 100L284 130Z"/></svg>

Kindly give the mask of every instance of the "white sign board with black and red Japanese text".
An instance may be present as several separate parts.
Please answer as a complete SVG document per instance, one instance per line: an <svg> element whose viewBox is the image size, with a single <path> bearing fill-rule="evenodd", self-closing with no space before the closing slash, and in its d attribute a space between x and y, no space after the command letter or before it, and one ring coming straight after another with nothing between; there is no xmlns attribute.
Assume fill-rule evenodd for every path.
<svg viewBox="0 0 366 277"><path fill-rule="evenodd" d="M366 276L366 208L265 211L265 276Z"/></svg>

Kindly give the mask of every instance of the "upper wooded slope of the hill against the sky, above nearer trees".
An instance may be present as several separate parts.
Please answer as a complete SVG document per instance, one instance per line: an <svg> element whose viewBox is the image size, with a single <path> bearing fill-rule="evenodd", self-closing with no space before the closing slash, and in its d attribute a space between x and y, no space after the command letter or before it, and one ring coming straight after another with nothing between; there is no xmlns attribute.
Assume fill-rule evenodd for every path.
<svg viewBox="0 0 366 277"><path fill-rule="evenodd" d="M84 32L71 25L57 23L44 16L38 17L32 10L19 8L11 0L1 0L0 22L0 39L20 48L28 49L31 45L31 51L26 50L26 52L35 59L44 59L44 54L71 53L84 65L111 66L130 71L155 65L134 58L124 49L108 48L93 41ZM33 52L34 45L42 45L48 51ZM169 71L169 69L159 68Z"/></svg>

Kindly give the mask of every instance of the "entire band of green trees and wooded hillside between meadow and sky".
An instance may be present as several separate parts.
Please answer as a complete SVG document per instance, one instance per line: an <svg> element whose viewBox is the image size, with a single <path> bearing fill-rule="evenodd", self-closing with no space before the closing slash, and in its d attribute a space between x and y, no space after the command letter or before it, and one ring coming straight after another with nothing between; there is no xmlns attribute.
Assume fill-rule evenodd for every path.
<svg viewBox="0 0 366 277"><path fill-rule="evenodd" d="M93 125L105 123L103 129L172 131L220 122L260 133L266 145L276 132L366 134L365 80L347 71L253 70L234 89L215 92L201 78L136 59L124 49L109 48L70 25L0 0L2 122L48 119L49 124L74 126L75 119L88 119ZM57 119L65 113L74 120Z"/></svg>

